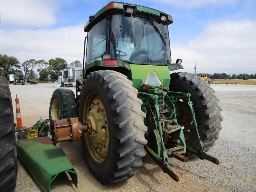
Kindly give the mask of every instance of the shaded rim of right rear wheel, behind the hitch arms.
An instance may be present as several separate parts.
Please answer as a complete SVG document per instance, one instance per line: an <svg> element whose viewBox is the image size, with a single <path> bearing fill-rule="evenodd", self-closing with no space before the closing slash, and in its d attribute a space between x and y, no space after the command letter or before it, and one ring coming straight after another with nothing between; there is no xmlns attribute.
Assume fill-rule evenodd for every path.
<svg viewBox="0 0 256 192"><path fill-rule="evenodd" d="M194 129L194 123L192 121L192 116L190 112L190 108L188 106L188 102L185 99L180 99L176 102L177 112L178 112L178 123L184 127L183 133L185 140L187 140Z"/></svg>

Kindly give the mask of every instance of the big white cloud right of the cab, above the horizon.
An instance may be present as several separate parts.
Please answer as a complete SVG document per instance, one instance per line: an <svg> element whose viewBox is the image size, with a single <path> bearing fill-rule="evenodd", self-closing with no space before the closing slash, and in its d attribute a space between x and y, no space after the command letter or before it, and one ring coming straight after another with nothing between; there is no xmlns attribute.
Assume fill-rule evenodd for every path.
<svg viewBox="0 0 256 192"><path fill-rule="evenodd" d="M185 69L197 72L256 73L256 21L210 24L186 45L172 45L172 58L183 59Z"/></svg>

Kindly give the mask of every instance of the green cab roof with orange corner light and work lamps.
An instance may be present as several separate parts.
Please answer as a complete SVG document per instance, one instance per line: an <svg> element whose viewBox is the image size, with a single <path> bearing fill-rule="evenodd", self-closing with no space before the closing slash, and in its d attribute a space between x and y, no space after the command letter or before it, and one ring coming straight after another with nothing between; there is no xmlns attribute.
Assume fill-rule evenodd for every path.
<svg viewBox="0 0 256 192"><path fill-rule="evenodd" d="M164 12L158 11L156 9L152 9L149 7L141 6L141 5L136 5L136 4L129 4L129 3L123 3L123 2L115 2L112 1L108 3L106 6L101 8L95 15L92 15L89 17L89 21L86 23L84 26L84 31L89 32L92 26L94 26L99 20L104 18L106 15L110 13L126 13L127 7L133 8L134 13L133 14L149 14L152 16L154 19L159 19L161 16L166 16L166 21L164 21L164 24L171 24L172 21L172 16L169 14L166 14Z"/></svg>

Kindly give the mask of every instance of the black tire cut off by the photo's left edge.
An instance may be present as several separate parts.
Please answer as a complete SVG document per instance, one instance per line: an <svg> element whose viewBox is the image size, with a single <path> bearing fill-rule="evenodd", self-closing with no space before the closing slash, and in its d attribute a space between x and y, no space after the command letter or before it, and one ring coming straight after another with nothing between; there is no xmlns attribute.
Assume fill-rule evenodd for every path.
<svg viewBox="0 0 256 192"><path fill-rule="evenodd" d="M6 78L0 76L0 191L16 186L17 154L12 98Z"/></svg>

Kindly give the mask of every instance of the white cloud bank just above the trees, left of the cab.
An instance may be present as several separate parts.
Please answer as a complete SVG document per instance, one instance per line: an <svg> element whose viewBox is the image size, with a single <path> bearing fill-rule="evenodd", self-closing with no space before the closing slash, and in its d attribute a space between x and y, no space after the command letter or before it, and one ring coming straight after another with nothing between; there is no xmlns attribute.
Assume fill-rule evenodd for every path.
<svg viewBox="0 0 256 192"><path fill-rule="evenodd" d="M24 62L30 58L49 60L64 58L68 63L82 62L84 26L68 26L39 30L0 30L0 53L15 56Z"/></svg>

